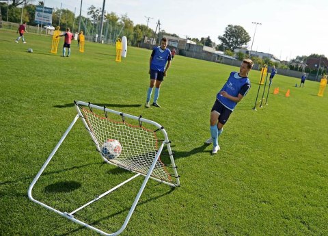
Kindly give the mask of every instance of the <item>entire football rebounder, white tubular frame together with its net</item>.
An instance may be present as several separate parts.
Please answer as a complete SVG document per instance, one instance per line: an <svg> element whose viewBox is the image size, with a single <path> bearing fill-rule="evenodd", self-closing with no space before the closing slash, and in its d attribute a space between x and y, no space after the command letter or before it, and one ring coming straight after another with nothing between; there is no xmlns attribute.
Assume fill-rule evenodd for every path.
<svg viewBox="0 0 328 236"><path fill-rule="evenodd" d="M170 141L167 137L167 133L160 124L154 122L152 120L147 120L142 118L141 116L133 116L129 114L124 114L122 112L117 112L112 109L108 109L107 107L100 107L98 105L93 105L91 103L85 103L82 101L74 101L75 108L77 109L77 115L74 117L73 121L70 123L68 129L65 131L64 135L62 135L61 139L49 155L48 159L46 159L42 168L33 179L31 185L28 189L28 196L33 201L49 209L58 213L59 215L72 220L77 224L81 224L86 228L90 228L93 231L96 231L102 235L119 235L124 231L128 221L137 206L139 198L143 192L143 189L146 187L149 179L154 179L155 181L159 181L161 183L165 183L171 187L180 186L180 180L177 172L177 167L174 162L174 157L172 153L172 149L170 146ZM100 115L102 114L102 115ZM100 194L90 202L85 203L81 207L78 207L74 211L70 213L65 211L59 211L54 207L46 205L44 202L36 200L32 196L32 189L42 172L48 166L49 162L57 152L58 148L64 142L66 136L74 127L74 124L77 120L81 120L90 134L92 141L96 145L96 150L100 154L100 157L107 163L110 163L114 166L118 166L120 168L124 168L126 170L130 170L131 172L135 172L135 175L131 178L123 181L119 185L109 189L107 192ZM127 122L127 120L131 120L137 124L131 124ZM147 124L147 127L144 127L142 124ZM150 129L152 127L153 129ZM161 136L163 136L163 140L159 140L156 133L161 132ZM107 155L104 150L107 148L109 152L116 151L115 148L108 148L107 143L113 142L115 140L115 144L118 144L117 147L118 153L115 155ZM112 143L111 143L112 144ZM161 160L161 154L163 153L163 149L166 148L169 159L166 161L168 163L163 163ZM106 149L106 150L107 150ZM165 162L165 161L164 161ZM74 218L74 213L80 211L81 209L91 205L93 202L96 202L100 198L107 196L115 189L122 187L125 183L132 181L138 176L144 176L143 183L133 201L133 205L131 206L122 227L116 231L115 233L106 233L90 224L82 222L77 218Z"/></svg>

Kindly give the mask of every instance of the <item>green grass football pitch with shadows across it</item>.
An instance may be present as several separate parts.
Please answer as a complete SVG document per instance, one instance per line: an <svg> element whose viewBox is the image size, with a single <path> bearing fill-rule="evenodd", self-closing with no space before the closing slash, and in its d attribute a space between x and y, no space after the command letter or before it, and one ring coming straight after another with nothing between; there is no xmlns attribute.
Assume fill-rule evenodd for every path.
<svg viewBox="0 0 328 236"><path fill-rule="evenodd" d="M209 113L236 67L176 56L161 87L161 109L143 107L151 51L87 42L71 57L49 53L51 38L0 29L0 235L97 235L31 202L27 189L76 115L73 101L154 120L172 140L181 187L150 180L122 235L328 235L328 91L275 76L269 105L254 111L260 73L210 155ZM32 48L33 53L27 53ZM261 88L260 96L262 96ZM70 211L132 176L100 159L81 121L33 189ZM122 225L143 178L78 213L103 231Z"/></svg>

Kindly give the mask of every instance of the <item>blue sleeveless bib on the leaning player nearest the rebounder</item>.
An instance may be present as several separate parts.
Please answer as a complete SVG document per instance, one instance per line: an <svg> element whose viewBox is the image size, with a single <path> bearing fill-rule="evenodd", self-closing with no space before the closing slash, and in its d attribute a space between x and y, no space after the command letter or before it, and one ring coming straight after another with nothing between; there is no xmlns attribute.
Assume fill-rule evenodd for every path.
<svg viewBox="0 0 328 236"><path fill-rule="evenodd" d="M238 72L232 72L230 73L228 81L220 90L220 92L226 91L231 96L238 96L238 94L246 96L250 88L251 82L249 81L248 77L241 77L239 76ZM217 100L219 100L220 103L222 103L225 107L232 111L234 110L234 107L236 107L237 104L234 101L231 101L230 99L221 96L219 93L217 94Z"/></svg>

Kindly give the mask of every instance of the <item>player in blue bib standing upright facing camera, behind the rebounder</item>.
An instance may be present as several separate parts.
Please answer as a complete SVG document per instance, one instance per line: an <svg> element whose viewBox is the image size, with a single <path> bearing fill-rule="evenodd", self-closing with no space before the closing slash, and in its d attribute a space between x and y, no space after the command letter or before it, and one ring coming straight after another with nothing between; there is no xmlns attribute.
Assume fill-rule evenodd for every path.
<svg viewBox="0 0 328 236"><path fill-rule="evenodd" d="M155 94L154 94L154 102L152 105L154 107L161 107L157 103L157 99L159 99L159 88L161 87L161 83L166 76L167 70L171 65L171 51L167 49L167 38L161 39L161 46L154 48L152 50L152 55L150 55L150 86L147 91L147 99L145 107L150 107L149 101L152 96L152 88L155 86Z"/></svg>

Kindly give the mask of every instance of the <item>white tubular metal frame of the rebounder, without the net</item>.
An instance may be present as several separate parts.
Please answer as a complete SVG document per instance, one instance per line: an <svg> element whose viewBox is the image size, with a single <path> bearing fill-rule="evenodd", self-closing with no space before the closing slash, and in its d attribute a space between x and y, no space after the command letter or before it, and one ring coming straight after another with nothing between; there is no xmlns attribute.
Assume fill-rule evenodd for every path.
<svg viewBox="0 0 328 236"><path fill-rule="evenodd" d="M85 102L82 102L82 101L79 101L79 102L75 102L74 101L74 103L75 103L75 108L77 109L77 116L74 117L73 121L70 123L70 126L65 131L64 135L62 135L61 139L59 140L59 142L57 143L57 145L55 146L55 148L53 149L53 151L49 155L48 159L46 159L46 161L44 162L42 168L39 170L38 174L33 179L32 183L31 183L31 185L29 186L29 189L28 189L29 199L32 200L33 202L38 203L39 205L41 205L42 207L44 207L46 209L49 209L51 211L54 211L55 213L58 213L59 215L63 216L64 218L67 218L68 220L72 220L72 222L75 222L77 224L80 224L81 226L85 226L86 228L90 228L91 230L96 231L97 233L100 233L101 235L119 235L126 228L128 222L129 222L129 220L131 218L131 215L133 214L133 211L135 211L135 207L137 206L137 203L139 201L139 198L141 197L141 194L143 192L143 189L146 187L146 184L148 183L148 180L150 178L151 179L154 179L156 181L159 181L161 183L165 183L165 184L167 184L169 186L172 186L172 187L180 186L180 180L179 180L178 172L176 170L176 165L174 163L172 149L171 149L171 146L169 144L170 142L169 142L169 139L167 137L167 133L166 133L165 129L163 129L163 127L160 124L158 124L158 123L156 123L156 122L154 122L152 120L147 120L147 119L144 119L144 118L141 118L141 117L137 117L137 116L132 116L132 115L129 115L129 114L122 114L122 112L116 112L114 110L107 109L105 107L99 107L97 105L93 105L93 104L90 104L90 103L85 103ZM85 122L85 119L83 118L83 114L81 113L81 110L79 108L79 105L83 105L83 106L88 106L90 108L104 110L104 112L110 112L112 114L117 114L117 115L120 115L120 116L124 116L126 118L131 118L131 119L134 119L134 120L139 120L139 122L145 122L145 123L148 123L148 124L152 124L152 125L154 125L155 127L157 127L158 129L160 129L162 131L165 139L163 140L161 146L159 146L159 150L157 151L157 153L156 153L156 155L154 157L154 161L152 161L152 165L150 166L147 174L142 174L142 173L136 172L136 174L134 176L132 176L131 178L127 179L126 181L123 181L119 185L116 185L115 187L109 189L107 192L105 192L103 194L100 194L99 196L97 196L96 198L94 198L93 200L91 200L90 202L85 203L85 205L82 205L81 207L78 207L74 211L71 211L70 213L68 213L68 212L59 211L59 210L57 210L57 209L55 209L53 207L50 207L49 205L46 205L44 202L40 202L39 200L34 199L33 196L32 196L32 189L33 189L34 185L36 184L36 182L38 181L38 179L40 178L40 176L42 175L42 172L44 171L44 169L46 168L46 166L48 166L49 162L51 161L51 159L53 158L53 156L57 152L59 146L61 146L62 142L64 142L66 136L68 135L68 133L70 132L70 130L72 129L72 127L74 127L74 124L77 122L77 120L79 120L79 118L81 118L81 120L82 120L83 124L85 125L85 128L87 128L87 131L90 134L92 140L96 143L96 140L95 140L95 137L94 137L93 133L90 131L90 129L88 129L87 122ZM156 161L159 159L159 156L161 155L161 151L163 150L163 147L165 145L167 146L167 151L169 153L169 158L170 158L171 163L172 163L172 168L174 170L174 178L176 179L176 183L169 183L167 181L161 181L161 180L156 179L156 178L154 178L154 177L151 176L152 171L154 170L154 168L156 166ZM107 163L111 163L105 157L103 157L101 155L101 153L100 153L100 156ZM111 164L114 164L114 163L111 163ZM122 168L122 166L120 166L120 167ZM87 224L85 222L82 222L81 220L78 220L77 218L74 218L74 213L76 213L77 211L83 209L84 207L87 207L88 205L90 205L93 202L99 200L100 198L106 196L107 194L110 194L115 189L118 189L122 185L128 183L129 181L132 181L133 179L135 179L138 176L145 176L145 179L144 179L143 183L141 184L141 187L139 189L139 192L137 193L137 196L135 197L135 200L133 201L133 205L131 206L131 209L128 211L128 215L126 216L126 219L124 220L124 223L122 224L121 228L118 231L116 231L115 233L106 233L106 232L100 230L99 228L96 228L94 226L91 226L90 224Z"/></svg>

